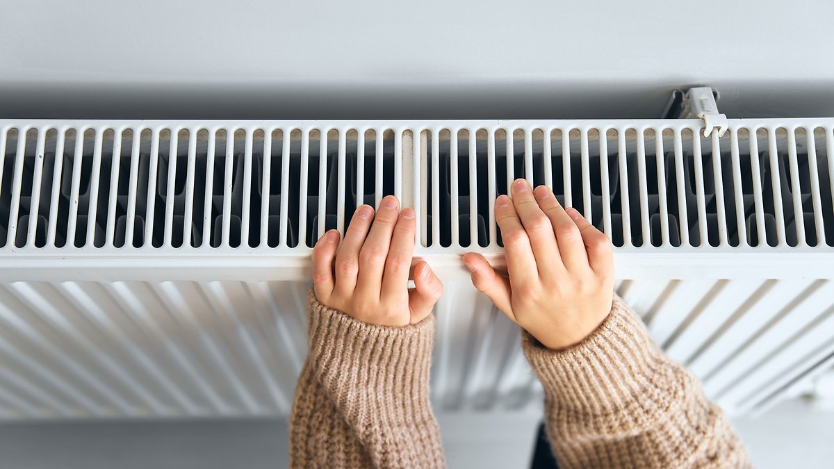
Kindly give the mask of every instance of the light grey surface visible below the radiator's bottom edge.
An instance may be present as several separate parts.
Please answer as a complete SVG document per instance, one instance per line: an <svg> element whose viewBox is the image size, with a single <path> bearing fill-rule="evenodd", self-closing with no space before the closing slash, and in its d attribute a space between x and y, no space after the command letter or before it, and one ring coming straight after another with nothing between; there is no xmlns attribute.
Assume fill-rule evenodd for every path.
<svg viewBox="0 0 834 469"><path fill-rule="evenodd" d="M540 416L440 412L452 469L527 467ZM786 401L733 421L759 469L831 467L834 413ZM0 425L3 469L274 469L289 465L283 420Z"/></svg>

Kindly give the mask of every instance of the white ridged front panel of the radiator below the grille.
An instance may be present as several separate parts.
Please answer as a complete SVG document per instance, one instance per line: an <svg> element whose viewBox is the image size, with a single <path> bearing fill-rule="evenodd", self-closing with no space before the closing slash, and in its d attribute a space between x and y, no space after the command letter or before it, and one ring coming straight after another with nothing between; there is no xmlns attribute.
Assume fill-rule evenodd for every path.
<svg viewBox="0 0 834 469"><path fill-rule="evenodd" d="M618 286L731 414L766 408L834 354L828 280ZM465 281L445 292L435 409L539 410L518 327ZM0 416L286 416L306 349L306 294L298 281L4 283Z"/></svg>

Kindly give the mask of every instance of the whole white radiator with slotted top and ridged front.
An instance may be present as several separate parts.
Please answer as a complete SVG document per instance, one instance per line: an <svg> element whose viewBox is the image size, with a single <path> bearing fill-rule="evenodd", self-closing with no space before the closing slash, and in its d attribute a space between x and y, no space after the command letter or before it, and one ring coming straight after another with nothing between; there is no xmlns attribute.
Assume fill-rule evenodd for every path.
<svg viewBox="0 0 834 469"><path fill-rule="evenodd" d="M540 406L517 327L460 254L500 263L512 179L615 243L617 289L731 414L834 362L834 119L0 120L0 418L286 415L310 246L358 204L413 206L445 280L445 411Z"/></svg>

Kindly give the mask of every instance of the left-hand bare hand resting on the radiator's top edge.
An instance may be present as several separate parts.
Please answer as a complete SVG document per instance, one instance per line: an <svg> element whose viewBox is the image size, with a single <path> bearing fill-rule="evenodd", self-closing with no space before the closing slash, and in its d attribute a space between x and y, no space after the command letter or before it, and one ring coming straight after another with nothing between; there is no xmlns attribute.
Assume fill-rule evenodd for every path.
<svg viewBox="0 0 834 469"><path fill-rule="evenodd" d="M415 229L414 210L400 212L393 195L382 199L375 218L369 205L359 207L341 245L335 229L316 242L316 298L374 325L408 325L425 319L443 293L443 285L429 265L420 262L414 265L415 288L408 289Z"/></svg>

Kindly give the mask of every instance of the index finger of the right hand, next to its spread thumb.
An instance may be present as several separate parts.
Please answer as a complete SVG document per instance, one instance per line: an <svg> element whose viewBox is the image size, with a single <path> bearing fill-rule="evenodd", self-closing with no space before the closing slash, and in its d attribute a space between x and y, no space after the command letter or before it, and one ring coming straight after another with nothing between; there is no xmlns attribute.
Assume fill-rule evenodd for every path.
<svg viewBox="0 0 834 469"><path fill-rule="evenodd" d="M523 285L537 278L539 271L535 265L533 250L530 248L530 240L518 214L515 213L512 200L506 195L495 199L495 221L498 222L501 240L504 241L510 282L513 285Z"/></svg>

